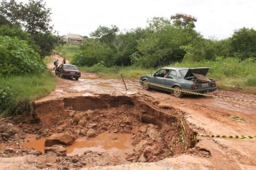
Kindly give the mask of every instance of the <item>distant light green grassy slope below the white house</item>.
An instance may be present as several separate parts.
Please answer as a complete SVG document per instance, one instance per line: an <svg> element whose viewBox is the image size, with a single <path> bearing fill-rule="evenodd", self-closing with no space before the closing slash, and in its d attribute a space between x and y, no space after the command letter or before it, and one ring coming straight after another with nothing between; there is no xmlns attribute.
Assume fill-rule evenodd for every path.
<svg viewBox="0 0 256 170"><path fill-rule="evenodd" d="M72 58L74 57L75 53L78 53L80 50L80 45L78 44L64 44L59 45L55 47L55 50L58 53L61 53L62 57L65 57L69 62L72 61Z"/></svg>

